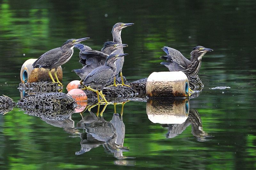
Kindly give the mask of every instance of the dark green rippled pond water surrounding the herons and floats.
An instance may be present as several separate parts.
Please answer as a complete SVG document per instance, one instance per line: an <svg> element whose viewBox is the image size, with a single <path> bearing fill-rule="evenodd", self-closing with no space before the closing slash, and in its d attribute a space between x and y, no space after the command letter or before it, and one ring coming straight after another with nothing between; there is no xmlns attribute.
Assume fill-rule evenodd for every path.
<svg viewBox="0 0 256 170"><path fill-rule="evenodd" d="M16 102L20 68L27 59L38 58L70 38L90 37L84 44L100 50L103 42L112 40L111 29L117 22L135 23L122 31L123 43L129 45L124 48L129 55L123 75L130 82L154 71L168 71L160 64L163 46L178 49L186 57L196 45L214 50L204 55L198 73L204 89L189 100L203 131L214 136L209 140L194 137L193 122L187 122L176 137L166 138L166 125L148 119L147 103L129 101L123 122L124 146L130 151L123 156L135 158L118 160L102 145L76 155L81 138L75 132L83 129L72 134L70 130L81 115L72 115L74 122L69 122L68 129L15 107L0 115L1 169L256 169L254 1L4 0L0 7L0 95ZM78 79L71 72L81 68L78 52L75 49L62 66L64 87ZM211 89L219 86L230 88ZM117 113L121 108L116 106ZM110 121L113 113L114 106L108 105L104 119ZM89 114L86 111L84 116Z"/></svg>

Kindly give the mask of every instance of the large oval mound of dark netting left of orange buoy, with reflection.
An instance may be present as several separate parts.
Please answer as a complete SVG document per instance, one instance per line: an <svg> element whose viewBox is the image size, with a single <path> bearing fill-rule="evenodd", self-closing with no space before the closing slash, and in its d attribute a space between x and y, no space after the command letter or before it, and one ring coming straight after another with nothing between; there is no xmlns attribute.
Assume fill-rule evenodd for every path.
<svg viewBox="0 0 256 170"><path fill-rule="evenodd" d="M64 120L77 107L75 100L62 92L30 94L21 98L17 104L25 114L46 120Z"/></svg>

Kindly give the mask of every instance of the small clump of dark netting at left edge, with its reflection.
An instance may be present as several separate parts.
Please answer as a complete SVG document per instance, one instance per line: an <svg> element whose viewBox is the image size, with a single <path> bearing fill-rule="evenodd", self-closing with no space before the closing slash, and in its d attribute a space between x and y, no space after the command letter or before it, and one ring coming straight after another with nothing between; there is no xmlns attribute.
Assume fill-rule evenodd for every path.
<svg viewBox="0 0 256 170"><path fill-rule="evenodd" d="M0 114L6 114L12 111L17 104L8 96L0 96Z"/></svg>

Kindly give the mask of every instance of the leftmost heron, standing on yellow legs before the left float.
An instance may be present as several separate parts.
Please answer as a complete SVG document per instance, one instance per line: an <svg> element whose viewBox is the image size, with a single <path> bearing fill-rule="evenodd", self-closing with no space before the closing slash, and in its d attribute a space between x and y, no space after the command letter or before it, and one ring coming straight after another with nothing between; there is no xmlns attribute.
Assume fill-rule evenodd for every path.
<svg viewBox="0 0 256 170"><path fill-rule="evenodd" d="M62 85L57 77L57 68L64 63L67 63L73 55L74 52L74 45L80 43L84 40L89 39L87 38L80 38L80 39L70 39L66 41L61 47L51 49L47 51L43 55L41 55L32 65L33 68L47 68L49 70L49 76L52 79L53 83L58 83ZM54 81L52 77L51 70L55 69L54 76L57 82Z"/></svg>

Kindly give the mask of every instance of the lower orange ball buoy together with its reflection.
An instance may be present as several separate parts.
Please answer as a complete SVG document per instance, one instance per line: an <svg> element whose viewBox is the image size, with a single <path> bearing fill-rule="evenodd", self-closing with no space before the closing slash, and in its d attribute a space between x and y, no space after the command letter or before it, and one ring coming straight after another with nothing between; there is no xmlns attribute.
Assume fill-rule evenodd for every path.
<svg viewBox="0 0 256 170"><path fill-rule="evenodd" d="M68 94L73 99L76 99L76 103L78 104L78 106L75 108L75 113L82 112L85 109L85 107L87 106L87 96L86 96L85 92L80 89L71 89L68 92Z"/></svg>

